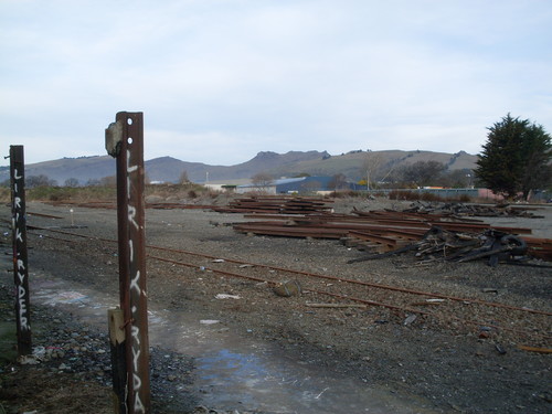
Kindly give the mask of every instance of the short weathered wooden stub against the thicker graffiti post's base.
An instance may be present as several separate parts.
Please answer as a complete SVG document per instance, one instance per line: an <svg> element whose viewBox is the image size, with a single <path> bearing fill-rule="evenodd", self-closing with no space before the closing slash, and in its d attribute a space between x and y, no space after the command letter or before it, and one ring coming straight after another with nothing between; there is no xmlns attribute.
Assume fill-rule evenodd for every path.
<svg viewBox="0 0 552 414"><path fill-rule="evenodd" d="M112 350L112 379L115 414L127 413L127 363L125 349L125 317L120 308L107 310L109 348Z"/></svg>

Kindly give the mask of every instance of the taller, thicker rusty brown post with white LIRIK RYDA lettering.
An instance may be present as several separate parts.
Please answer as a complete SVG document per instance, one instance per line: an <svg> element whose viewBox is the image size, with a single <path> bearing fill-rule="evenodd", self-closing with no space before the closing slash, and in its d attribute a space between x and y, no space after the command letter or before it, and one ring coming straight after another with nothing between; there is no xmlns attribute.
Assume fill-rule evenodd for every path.
<svg viewBox="0 0 552 414"><path fill-rule="evenodd" d="M119 296L124 320L117 328L125 330L126 412L149 413L142 113L118 113L116 121L106 129L106 149L117 160Z"/></svg>

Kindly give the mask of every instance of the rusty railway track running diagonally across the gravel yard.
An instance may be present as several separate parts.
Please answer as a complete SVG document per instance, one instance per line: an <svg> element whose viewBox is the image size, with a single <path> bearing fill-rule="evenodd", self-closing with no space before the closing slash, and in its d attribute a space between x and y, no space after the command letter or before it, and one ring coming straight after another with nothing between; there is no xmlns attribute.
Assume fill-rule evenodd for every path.
<svg viewBox="0 0 552 414"><path fill-rule="evenodd" d="M30 226L29 230L31 234L40 231L43 236L64 243L78 243L84 238L116 243L115 240L54 229ZM202 279L219 277L241 280L238 288L245 290L259 284L266 285L268 290L285 280L296 280L302 288L302 296L300 299L290 298L294 306L360 308L358 317L365 318L365 323L373 323L381 309L385 309L397 323L436 327L453 335L471 332L481 338L493 336L500 341L529 343L538 349L550 349L552 342L552 312L548 310L407 289L370 283L362 277L343 278L156 245L147 245L147 256L150 264L156 262L170 267L199 270ZM246 297L246 293L244 296Z"/></svg>

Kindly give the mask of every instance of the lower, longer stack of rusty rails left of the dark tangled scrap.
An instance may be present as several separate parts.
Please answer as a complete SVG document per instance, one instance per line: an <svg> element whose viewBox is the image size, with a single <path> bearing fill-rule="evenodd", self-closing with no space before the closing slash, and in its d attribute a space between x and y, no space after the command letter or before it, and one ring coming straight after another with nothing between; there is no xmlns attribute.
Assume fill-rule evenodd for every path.
<svg viewBox="0 0 552 414"><path fill-rule="evenodd" d="M482 235L496 230L507 234L531 234L527 227L491 226L473 219L452 219L442 214L397 211L353 211L353 214L314 213L244 214L252 222L236 223L234 230L246 234L285 237L312 237L341 240L348 246L357 246L378 253L404 247L424 238L432 229L448 232ZM552 241L548 238L521 237L528 246L528 255L552 261Z"/></svg>

